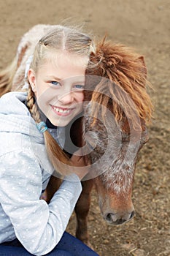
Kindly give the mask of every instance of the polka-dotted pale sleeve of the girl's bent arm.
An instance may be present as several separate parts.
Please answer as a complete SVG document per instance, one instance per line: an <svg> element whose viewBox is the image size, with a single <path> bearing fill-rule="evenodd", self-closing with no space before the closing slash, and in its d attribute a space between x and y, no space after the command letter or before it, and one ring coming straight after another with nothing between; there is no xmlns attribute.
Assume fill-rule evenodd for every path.
<svg viewBox="0 0 170 256"><path fill-rule="evenodd" d="M39 200L42 170L31 151L7 153L0 162L0 213L3 211L0 222L4 225L3 231L0 229L0 241L8 230L28 252L45 255L58 244L66 230L82 191L81 183L63 181L47 205L45 200Z"/></svg>

